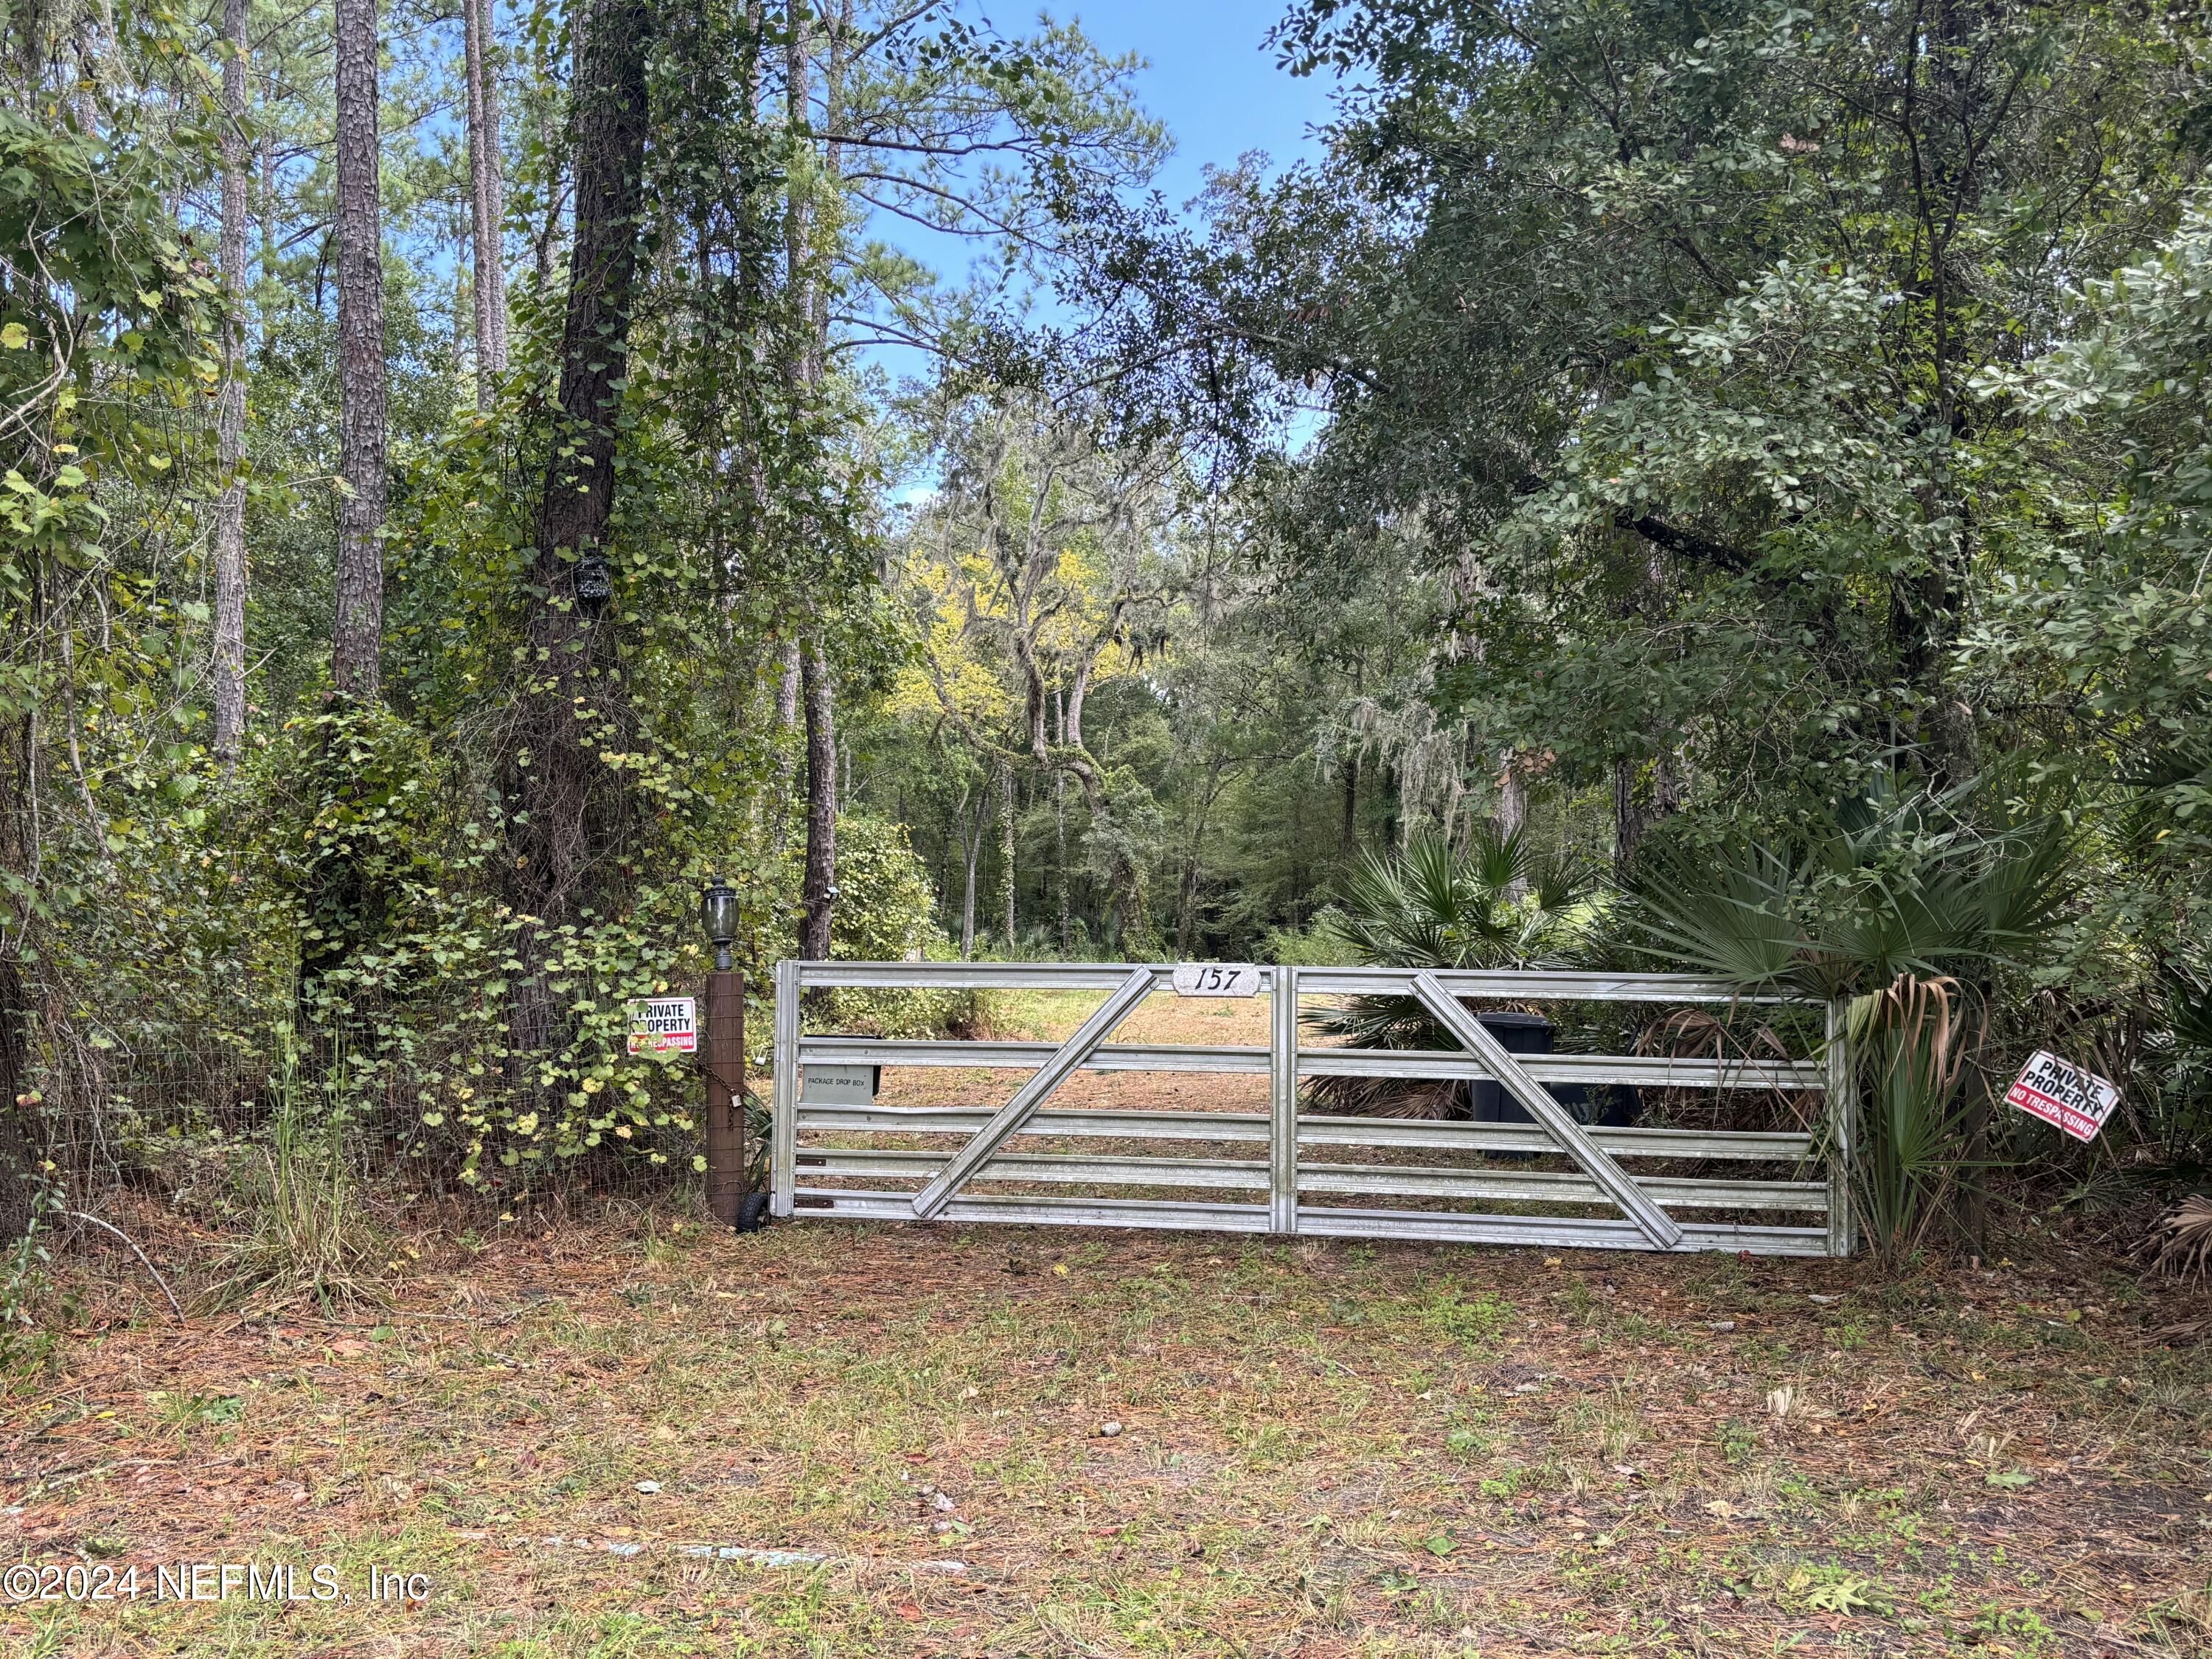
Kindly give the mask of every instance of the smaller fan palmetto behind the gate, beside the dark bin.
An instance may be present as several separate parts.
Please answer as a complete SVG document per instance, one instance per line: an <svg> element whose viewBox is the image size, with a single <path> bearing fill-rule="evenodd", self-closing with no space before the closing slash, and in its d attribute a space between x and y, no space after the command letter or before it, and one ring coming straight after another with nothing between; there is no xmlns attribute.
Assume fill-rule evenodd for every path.
<svg viewBox="0 0 2212 1659"><path fill-rule="evenodd" d="M1464 852L1416 836L1400 854L1367 854L1325 929L1371 967L1542 969L1562 967L1590 920L1586 874L1482 825ZM1305 1024L1349 1048L1458 1048L1413 998L1352 998ZM1325 1110L1389 1117L1449 1117L1467 1099L1462 1084L1363 1077L1325 1077L1312 1093Z"/></svg>

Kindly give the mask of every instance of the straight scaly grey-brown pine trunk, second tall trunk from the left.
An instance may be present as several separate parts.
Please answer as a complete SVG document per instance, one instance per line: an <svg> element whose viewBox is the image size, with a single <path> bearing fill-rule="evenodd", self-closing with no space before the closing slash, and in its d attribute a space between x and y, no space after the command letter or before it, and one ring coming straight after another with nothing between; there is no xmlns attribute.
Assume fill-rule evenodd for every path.
<svg viewBox="0 0 2212 1659"><path fill-rule="evenodd" d="M330 677L383 688L385 261L376 157L376 0L338 9L338 606Z"/></svg>

